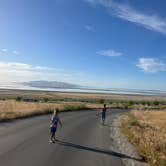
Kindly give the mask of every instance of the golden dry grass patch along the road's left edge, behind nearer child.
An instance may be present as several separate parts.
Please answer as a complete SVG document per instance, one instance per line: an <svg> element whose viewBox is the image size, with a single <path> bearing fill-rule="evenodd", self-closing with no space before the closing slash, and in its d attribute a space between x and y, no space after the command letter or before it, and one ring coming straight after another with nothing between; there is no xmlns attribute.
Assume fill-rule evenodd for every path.
<svg viewBox="0 0 166 166"><path fill-rule="evenodd" d="M50 113L55 108L59 108L61 111L77 110L77 109L86 108L86 105L82 103L67 103L67 102L32 103L32 102L17 102L14 100L0 101L0 121L27 117L37 114Z"/></svg>

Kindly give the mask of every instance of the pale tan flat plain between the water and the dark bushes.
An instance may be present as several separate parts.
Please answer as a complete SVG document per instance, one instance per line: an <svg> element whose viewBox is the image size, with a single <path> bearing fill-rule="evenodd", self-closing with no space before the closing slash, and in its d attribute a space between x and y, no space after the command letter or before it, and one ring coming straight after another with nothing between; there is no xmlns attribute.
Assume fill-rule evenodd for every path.
<svg viewBox="0 0 166 166"><path fill-rule="evenodd" d="M164 100L166 101L166 96L146 96L146 95L122 95L122 94L94 94L94 93L68 93L68 92L51 92L51 91L31 91L31 90L0 90L0 98L15 98L16 96L22 97L33 97L33 98L79 98L79 99L112 99L112 100Z"/></svg>

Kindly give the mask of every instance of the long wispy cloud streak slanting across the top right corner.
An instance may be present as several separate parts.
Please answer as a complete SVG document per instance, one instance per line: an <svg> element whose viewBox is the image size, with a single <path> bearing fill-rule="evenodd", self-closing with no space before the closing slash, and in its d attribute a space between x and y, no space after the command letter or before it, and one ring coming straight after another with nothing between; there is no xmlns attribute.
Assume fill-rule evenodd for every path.
<svg viewBox="0 0 166 166"><path fill-rule="evenodd" d="M166 18L157 14L147 14L136 10L127 4L117 3L113 0L85 0L93 5L101 5L108 11L123 20L136 23L146 29L166 34Z"/></svg>

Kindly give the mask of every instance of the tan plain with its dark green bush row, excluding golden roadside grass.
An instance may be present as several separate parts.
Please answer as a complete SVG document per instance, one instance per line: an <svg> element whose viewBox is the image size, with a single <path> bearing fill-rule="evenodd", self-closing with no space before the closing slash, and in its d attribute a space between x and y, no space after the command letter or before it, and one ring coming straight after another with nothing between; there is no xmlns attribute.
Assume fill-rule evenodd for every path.
<svg viewBox="0 0 166 166"><path fill-rule="evenodd" d="M14 99L24 101L33 99L40 102L84 102L96 104L113 104L117 107L148 106L166 108L166 96L120 95L120 94L93 94L93 93L65 93L30 90L0 90L0 100Z"/></svg>

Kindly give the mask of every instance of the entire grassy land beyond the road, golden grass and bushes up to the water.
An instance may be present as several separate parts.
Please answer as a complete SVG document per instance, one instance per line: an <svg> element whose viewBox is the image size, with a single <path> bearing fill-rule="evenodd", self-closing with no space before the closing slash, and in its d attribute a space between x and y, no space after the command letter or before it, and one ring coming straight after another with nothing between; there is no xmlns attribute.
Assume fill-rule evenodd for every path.
<svg viewBox="0 0 166 166"><path fill-rule="evenodd" d="M0 121L46 114L55 108L62 111L102 108L104 103L119 109L166 109L164 96L0 89Z"/></svg>

